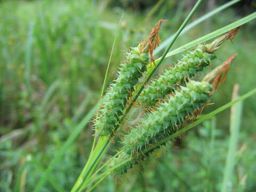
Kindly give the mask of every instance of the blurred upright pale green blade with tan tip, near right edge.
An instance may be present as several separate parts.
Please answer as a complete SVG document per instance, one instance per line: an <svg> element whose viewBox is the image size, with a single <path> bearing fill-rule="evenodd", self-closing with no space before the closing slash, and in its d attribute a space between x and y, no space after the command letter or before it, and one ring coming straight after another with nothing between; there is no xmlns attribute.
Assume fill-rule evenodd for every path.
<svg viewBox="0 0 256 192"><path fill-rule="evenodd" d="M235 100L239 98L238 96L238 85L234 86L233 91L233 98ZM230 114L230 139L228 145L228 154L226 158L226 165L225 165L225 172L222 180L222 192L231 191L231 183L232 180L232 173L235 166L235 156L236 156L236 147L238 142L239 136L239 128L241 126L241 119L242 119L242 101L236 103L231 107L231 114Z"/></svg>

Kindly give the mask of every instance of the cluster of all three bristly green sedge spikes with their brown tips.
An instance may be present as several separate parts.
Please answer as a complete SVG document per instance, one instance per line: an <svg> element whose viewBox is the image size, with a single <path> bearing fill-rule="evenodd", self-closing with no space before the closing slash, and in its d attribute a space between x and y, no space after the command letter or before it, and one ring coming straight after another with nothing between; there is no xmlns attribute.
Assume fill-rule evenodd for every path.
<svg viewBox="0 0 256 192"><path fill-rule="evenodd" d="M131 48L127 53L127 59L121 65L118 77L115 83L111 84L110 91L106 94L95 118L95 131L99 136L111 138L114 135L125 105L133 95L134 87L147 70L150 61L154 62L153 50L159 43L158 30L163 21L165 20L160 20L156 24L144 42L138 47ZM141 107L155 108L151 113L146 113L141 121L124 135L121 151L110 161L110 167L116 168L113 168L114 174L127 172L133 164L148 156L159 145L163 145L165 139L181 129L188 118L200 113L212 92L218 87L222 74L226 76L236 55L232 55L225 63L211 71L202 82L190 78L209 66L210 62L217 58L213 52L227 39L233 39L237 31L238 28L212 43L197 45L193 51L184 55L177 65L166 69L163 75L151 81L142 91L139 97ZM156 105L158 100L162 102ZM152 148L154 145L157 147Z"/></svg>

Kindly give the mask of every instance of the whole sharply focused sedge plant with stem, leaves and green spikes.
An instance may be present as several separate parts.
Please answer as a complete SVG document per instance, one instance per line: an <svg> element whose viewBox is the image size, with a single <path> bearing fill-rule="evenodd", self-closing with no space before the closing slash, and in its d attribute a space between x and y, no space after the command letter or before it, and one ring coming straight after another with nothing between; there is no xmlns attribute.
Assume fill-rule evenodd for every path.
<svg viewBox="0 0 256 192"><path fill-rule="evenodd" d="M226 39L233 38L234 31L237 31L237 29L233 29L256 18L256 13L254 12L247 17L237 20L225 27L215 30L210 34L200 37L195 41L187 43L178 49L169 52L171 46L181 34L182 30L185 28L188 21L201 3L202 1L200 0L196 3L193 10L191 10L177 33L175 33L171 39L171 42L169 42L162 57L155 60L153 58L153 51L159 43L158 27L160 27L163 20L161 20L162 22L160 21L156 27L150 31L150 34L147 38L145 38L145 41L142 41L137 47L131 48L130 52L127 53L127 58L119 68L116 81L110 85L108 93L102 99L103 104L98 109L97 115L94 116L95 145L93 144L89 159L87 160L84 169L79 175L71 191L83 191L85 188L87 188L86 191L91 191L103 179L108 177L108 175L116 173L122 174L127 172L127 170L130 169L133 164L138 162L139 157L145 157L150 153L150 151L155 150L167 141L179 136L183 132L186 132L195 125L203 122L205 119L211 118L213 115L220 113L220 111L229 108L234 103L242 101L256 93L256 89L254 89L247 94L242 95L240 98L228 103L227 105L213 111L212 113L203 116L194 123L184 126L184 122L187 120L187 117L195 115L195 111L201 111L202 107L206 105L207 101L209 101L210 94L214 90L213 87L216 84L219 84L219 76L212 75L212 73L207 75L202 82L195 81L195 79L190 79L193 78L193 76L195 76L199 71L202 71L204 67L209 66L210 61L216 57L213 53L215 50L211 50L209 47L213 46L214 48L219 48L220 45L213 44L213 42L216 41L206 44L202 43L225 33L232 34ZM225 35L227 36L227 34ZM149 90L149 87L154 85L154 81L158 81L157 78L153 79L152 81L150 80L163 60L184 51L183 47L190 49L194 46L196 47L193 51L187 53L187 55L185 55L185 57L182 58L177 65L174 65L169 70L167 69L165 71L166 73L163 74L170 76L173 75L173 73L170 71L179 70L178 74L175 73L177 78L175 76L175 79L172 82L169 82L171 83L171 87L169 84L165 84L162 81L162 92L158 91L156 97L154 94L153 96L152 94L149 94L150 97L145 97L145 95L147 95L147 89ZM184 69L187 69L187 71ZM213 74L223 74L218 72L219 69L215 70ZM161 76L159 78L161 78ZM209 79L207 78L215 81L210 84ZM140 81L140 79L142 81ZM159 80L159 82L161 82L161 80ZM162 84L158 83L157 85L161 86ZM160 88L157 89L159 90ZM159 93L162 95L159 95ZM124 135L124 140L121 142L122 147L118 153L111 157L98 170L96 170L103 157L103 154L111 144L111 141L116 138L115 136L118 133L118 128L122 126L122 123L126 119L126 115L129 113L134 103L137 102L137 99L138 103L144 103L144 105L141 105L142 108L145 108L145 105L146 108L155 106L154 111L145 114L146 116L143 117L141 122L137 126L134 126L134 129L131 129L129 133ZM157 103L156 106L156 101L158 102L159 99L161 102ZM148 105L148 102L152 103ZM100 104L101 103L98 105ZM70 138L61 148L57 157L54 158L50 163L42 179L38 182L35 191L40 191L42 189L42 186L53 170L54 165L58 163L58 159L61 158L61 154L65 152L67 146L74 141L79 132L88 123L93 112L96 108L98 108L98 105L95 106L90 111L90 114L77 125L74 134L70 135ZM160 116L163 121L159 120ZM100 171L106 168L106 165L110 165L110 167L108 167L105 172L99 174Z"/></svg>

